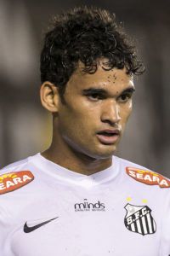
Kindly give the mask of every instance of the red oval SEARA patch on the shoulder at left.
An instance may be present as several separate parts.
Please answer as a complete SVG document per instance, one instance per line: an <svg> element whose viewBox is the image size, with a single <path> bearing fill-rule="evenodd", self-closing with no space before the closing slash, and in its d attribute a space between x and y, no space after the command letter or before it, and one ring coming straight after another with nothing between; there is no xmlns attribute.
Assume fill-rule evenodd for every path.
<svg viewBox="0 0 170 256"><path fill-rule="evenodd" d="M0 195L20 189L34 179L30 171L10 172L0 176Z"/></svg>

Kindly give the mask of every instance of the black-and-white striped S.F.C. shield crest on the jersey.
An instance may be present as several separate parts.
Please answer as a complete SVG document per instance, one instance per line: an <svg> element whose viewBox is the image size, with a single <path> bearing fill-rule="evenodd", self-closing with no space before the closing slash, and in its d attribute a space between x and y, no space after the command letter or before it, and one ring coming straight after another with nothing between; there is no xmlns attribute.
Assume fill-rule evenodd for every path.
<svg viewBox="0 0 170 256"><path fill-rule="evenodd" d="M151 216L149 207L138 207L127 204L125 209L127 210L127 215L125 216L124 223L127 230L143 236L156 232L156 222Z"/></svg>

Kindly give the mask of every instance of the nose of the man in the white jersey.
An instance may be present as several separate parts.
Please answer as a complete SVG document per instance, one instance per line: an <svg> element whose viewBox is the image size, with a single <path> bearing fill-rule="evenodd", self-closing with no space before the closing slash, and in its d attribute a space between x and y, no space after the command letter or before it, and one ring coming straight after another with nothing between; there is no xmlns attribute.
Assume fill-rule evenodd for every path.
<svg viewBox="0 0 170 256"><path fill-rule="evenodd" d="M115 100L111 100L105 104L105 108L102 110L101 121L110 125L116 125L121 119L119 112L118 104Z"/></svg>

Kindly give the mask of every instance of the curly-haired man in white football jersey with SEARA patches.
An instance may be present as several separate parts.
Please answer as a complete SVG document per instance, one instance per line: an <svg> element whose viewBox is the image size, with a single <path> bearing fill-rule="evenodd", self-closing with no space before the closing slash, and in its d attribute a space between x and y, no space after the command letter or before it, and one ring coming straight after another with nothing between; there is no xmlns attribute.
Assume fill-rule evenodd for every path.
<svg viewBox="0 0 170 256"><path fill-rule="evenodd" d="M107 11L56 16L40 91L53 140L1 171L1 255L170 254L170 181L113 156L141 68Z"/></svg>

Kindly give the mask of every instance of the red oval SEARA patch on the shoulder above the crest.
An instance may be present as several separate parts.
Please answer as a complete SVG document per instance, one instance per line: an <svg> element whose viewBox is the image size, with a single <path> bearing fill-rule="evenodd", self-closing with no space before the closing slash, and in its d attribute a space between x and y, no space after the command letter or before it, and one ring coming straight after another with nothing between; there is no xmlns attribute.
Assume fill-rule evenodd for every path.
<svg viewBox="0 0 170 256"><path fill-rule="evenodd" d="M156 172L150 172L139 168L127 167L127 175L133 179L148 185L159 185L160 188L170 188L170 181Z"/></svg>

